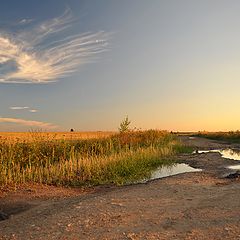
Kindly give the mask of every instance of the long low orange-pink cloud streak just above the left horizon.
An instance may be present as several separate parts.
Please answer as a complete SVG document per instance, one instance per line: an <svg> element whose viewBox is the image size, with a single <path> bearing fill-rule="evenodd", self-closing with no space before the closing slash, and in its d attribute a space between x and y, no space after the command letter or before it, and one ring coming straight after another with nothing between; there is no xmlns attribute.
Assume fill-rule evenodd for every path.
<svg viewBox="0 0 240 240"><path fill-rule="evenodd" d="M38 128L43 128L43 129L55 129L55 128L58 127L58 126L53 125L51 123L31 121L31 120L25 120L25 119L20 119L20 118L3 118L3 117L0 117L0 123L15 123L15 124L21 124L21 125L24 125L24 126L38 127Z"/></svg>

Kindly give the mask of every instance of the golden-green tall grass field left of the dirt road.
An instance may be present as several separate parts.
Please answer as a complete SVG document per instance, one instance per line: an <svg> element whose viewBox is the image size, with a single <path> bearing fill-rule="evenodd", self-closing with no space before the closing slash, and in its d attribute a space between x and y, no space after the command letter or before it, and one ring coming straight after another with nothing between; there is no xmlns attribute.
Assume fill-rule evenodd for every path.
<svg viewBox="0 0 240 240"><path fill-rule="evenodd" d="M1 133L0 185L123 184L187 151L166 131Z"/></svg>

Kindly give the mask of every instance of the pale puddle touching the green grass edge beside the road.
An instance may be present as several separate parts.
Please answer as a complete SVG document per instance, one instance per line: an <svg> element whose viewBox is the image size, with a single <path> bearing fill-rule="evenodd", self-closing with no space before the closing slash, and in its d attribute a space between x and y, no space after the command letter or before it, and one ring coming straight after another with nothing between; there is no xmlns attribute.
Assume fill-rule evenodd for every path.
<svg viewBox="0 0 240 240"><path fill-rule="evenodd" d="M176 175L179 173L199 172L199 171L202 171L202 169L190 167L185 163L177 163L172 166L162 166L158 168L156 171L152 173L151 177L147 180L168 177L168 176Z"/></svg>

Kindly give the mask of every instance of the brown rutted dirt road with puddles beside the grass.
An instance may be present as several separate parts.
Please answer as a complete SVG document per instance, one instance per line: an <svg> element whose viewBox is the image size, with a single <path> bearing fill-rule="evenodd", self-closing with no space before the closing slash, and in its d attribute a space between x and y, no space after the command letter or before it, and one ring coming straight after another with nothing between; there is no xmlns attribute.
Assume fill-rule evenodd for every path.
<svg viewBox="0 0 240 240"><path fill-rule="evenodd" d="M226 147L182 140L196 148ZM6 193L0 210L11 216L0 221L0 239L240 240L240 181L224 177L225 167L236 161L218 153L179 159L204 171L87 191L46 187Z"/></svg>

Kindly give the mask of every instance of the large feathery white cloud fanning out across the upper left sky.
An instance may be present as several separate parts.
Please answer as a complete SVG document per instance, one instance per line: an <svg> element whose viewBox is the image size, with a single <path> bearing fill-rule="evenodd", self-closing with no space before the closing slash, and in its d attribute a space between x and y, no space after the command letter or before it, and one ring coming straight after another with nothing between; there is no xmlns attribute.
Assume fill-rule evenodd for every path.
<svg viewBox="0 0 240 240"><path fill-rule="evenodd" d="M0 83L53 82L107 49L109 34L103 31L63 37L73 20L67 10L22 32L0 30Z"/></svg>

